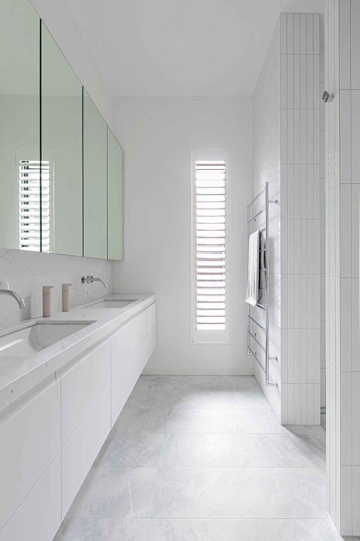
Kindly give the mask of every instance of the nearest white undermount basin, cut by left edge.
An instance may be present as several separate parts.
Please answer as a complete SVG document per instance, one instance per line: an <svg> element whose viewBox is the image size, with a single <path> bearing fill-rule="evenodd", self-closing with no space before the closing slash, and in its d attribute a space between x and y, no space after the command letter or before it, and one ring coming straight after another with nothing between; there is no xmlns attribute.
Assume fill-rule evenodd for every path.
<svg viewBox="0 0 360 541"><path fill-rule="evenodd" d="M0 337L0 357L33 355L90 324L41 323Z"/></svg>

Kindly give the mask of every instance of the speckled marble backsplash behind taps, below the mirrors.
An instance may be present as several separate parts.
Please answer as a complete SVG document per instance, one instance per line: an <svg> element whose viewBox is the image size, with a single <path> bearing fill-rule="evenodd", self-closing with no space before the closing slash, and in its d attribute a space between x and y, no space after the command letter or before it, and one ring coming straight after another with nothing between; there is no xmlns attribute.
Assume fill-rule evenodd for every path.
<svg viewBox="0 0 360 541"><path fill-rule="evenodd" d="M93 275L107 283L81 283L81 276ZM8 282L19 293L26 308L19 309L9 296L0 296L0 326L42 316L42 286L52 289L53 312L62 309L62 283L72 283L70 304L113 293L114 262L106 259L80 258L73 255L40 254L22 250L0 250L0 282Z"/></svg>

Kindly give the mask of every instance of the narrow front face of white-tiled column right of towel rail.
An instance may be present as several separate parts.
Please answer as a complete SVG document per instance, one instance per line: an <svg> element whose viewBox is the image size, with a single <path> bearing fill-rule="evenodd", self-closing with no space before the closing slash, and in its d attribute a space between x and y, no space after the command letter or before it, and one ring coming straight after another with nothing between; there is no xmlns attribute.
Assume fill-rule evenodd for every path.
<svg viewBox="0 0 360 541"><path fill-rule="evenodd" d="M282 424L320 424L321 52L319 14L280 15Z"/></svg>

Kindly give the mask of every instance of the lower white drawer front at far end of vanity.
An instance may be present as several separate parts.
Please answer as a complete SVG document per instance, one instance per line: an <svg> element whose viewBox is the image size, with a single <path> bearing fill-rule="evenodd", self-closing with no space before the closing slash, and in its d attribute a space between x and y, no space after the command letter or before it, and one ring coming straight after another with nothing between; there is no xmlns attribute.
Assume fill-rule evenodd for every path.
<svg viewBox="0 0 360 541"><path fill-rule="evenodd" d="M144 370L147 361L150 359L150 355L154 351L156 345L156 326L152 328L150 334L147 335L127 361L123 370L117 375L117 377L111 383L111 426L114 426L115 421L119 417L121 410L123 409L126 400L130 396L131 391L134 388L135 383L138 381L139 376Z"/></svg>

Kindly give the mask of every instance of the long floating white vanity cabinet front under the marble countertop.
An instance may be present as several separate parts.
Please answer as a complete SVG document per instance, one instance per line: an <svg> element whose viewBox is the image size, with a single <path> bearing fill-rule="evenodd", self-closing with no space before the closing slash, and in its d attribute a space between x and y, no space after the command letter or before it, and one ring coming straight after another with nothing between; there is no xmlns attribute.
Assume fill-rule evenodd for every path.
<svg viewBox="0 0 360 541"><path fill-rule="evenodd" d="M153 304L0 413L0 541L52 541L155 345Z"/></svg>

